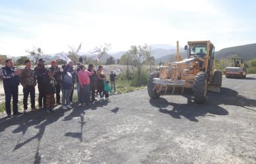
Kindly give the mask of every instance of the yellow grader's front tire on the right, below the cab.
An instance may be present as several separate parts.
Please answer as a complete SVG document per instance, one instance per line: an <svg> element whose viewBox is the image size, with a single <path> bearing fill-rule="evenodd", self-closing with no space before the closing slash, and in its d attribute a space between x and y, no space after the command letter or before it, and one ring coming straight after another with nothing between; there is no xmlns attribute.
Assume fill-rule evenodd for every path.
<svg viewBox="0 0 256 164"><path fill-rule="evenodd" d="M204 103L206 101L207 94L207 81L206 74L204 72L196 74L193 86L194 101L196 103Z"/></svg>

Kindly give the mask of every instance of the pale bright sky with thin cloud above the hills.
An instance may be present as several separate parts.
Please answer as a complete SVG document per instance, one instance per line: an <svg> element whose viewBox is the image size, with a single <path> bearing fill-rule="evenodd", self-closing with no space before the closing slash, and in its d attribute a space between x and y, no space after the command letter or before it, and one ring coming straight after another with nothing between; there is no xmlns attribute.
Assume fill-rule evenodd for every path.
<svg viewBox="0 0 256 164"><path fill-rule="evenodd" d="M131 45L186 45L210 40L216 50L256 43L256 1L238 0L0 0L0 54L111 52Z"/></svg>

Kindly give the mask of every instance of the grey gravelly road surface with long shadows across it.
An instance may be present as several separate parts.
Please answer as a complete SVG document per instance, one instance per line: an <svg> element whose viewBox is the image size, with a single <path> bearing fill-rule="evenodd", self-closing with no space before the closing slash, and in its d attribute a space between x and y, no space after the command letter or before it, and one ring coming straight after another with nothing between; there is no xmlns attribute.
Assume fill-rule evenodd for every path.
<svg viewBox="0 0 256 164"><path fill-rule="evenodd" d="M0 163L256 163L256 75L204 105L146 89L90 107L0 119Z"/></svg>

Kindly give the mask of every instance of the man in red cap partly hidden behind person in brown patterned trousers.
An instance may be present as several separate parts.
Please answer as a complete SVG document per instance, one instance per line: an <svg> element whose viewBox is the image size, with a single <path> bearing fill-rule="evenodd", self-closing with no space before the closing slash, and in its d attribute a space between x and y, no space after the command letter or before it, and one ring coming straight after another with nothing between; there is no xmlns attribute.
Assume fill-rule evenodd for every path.
<svg viewBox="0 0 256 164"><path fill-rule="evenodd" d="M60 70L60 67L58 67L58 61L52 61L51 65L52 66L50 67L50 70L52 70L54 79L57 82L57 84L55 86L56 103L58 105L60 105L60 104L62 104L62 103L60 103L60 86L62 84L62 71Z"/></svg>

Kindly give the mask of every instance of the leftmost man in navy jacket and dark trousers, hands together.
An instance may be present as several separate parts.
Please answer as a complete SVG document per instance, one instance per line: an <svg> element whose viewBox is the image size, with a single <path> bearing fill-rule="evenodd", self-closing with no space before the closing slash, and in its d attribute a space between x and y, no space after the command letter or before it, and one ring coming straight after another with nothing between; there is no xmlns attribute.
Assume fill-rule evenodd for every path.
<svg viewBox="0 0 256 164"><path fill-rule="evenodd" d="M13 60L7 59L5 67L1 68L1 75L3 76L3 88L5 90L5 110L7 117L11 117L11 97L13 96L13 116L21 115L18 111L18 96L19 96L19 76L21 70L13 67Z"/></svg>

